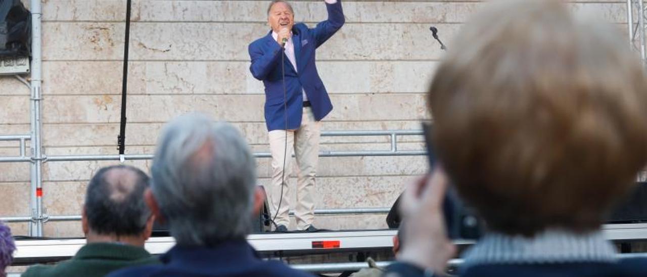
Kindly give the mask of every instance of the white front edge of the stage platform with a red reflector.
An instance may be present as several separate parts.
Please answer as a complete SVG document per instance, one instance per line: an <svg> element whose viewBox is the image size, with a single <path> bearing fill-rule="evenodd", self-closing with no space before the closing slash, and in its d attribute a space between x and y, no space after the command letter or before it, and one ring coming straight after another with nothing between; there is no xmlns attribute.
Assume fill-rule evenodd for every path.
<svg viewBox="0 0 647 277"><path fill-rule="evenodd" d="M602 228L613 241L647 240L647 223L610 224ZM263 256L290 256L324 254L329 252L356 252L384 250L393 247L391 238L396 230L321 231L314 233L289 232L251 234L249 243ZM469 245L474 241L454 241ZM64 260L85 245L85 239L23 239L17 240L14 254L16 264ZM170 237L150 238L146 249L152 254L162 254L175 245Z"/></svg>

